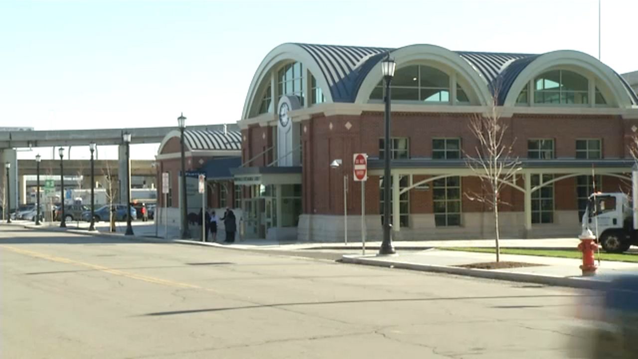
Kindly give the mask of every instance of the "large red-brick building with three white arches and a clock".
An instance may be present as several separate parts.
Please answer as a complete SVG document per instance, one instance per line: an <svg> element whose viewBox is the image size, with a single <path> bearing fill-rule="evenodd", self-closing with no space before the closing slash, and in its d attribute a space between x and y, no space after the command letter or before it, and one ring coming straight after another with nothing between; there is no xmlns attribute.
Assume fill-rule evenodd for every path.
<svg viewBox="0 0 638 359"><path fill-rule="evenodd" d="M479 142L473 116L493 110L521 171L503 190L501 233L575 236L593 188L618 191L633 160L638 98L618 73L582 52L459 52L433 45L399 49L286 43L257 68L242 119L246 234L341 241L343 178L348 233L359 238L360 183L353 153L369 156L369 238L382 236L384 91L392 79L392 223L395 238L489 238L493 215L466 194L480 178L466 164ZM342 159L339 168L330 168Z"/></svg>

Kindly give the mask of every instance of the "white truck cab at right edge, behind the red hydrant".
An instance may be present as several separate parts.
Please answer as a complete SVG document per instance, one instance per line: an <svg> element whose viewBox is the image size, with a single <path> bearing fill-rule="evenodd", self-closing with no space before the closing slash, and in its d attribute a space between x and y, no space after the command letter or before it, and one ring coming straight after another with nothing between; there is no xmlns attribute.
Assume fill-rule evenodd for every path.
<svg viewBox="0 0 638 359"><path fill-rule="evenodd" d="M590 195L582 215L582 228L590 229L605 250L621 253L635 243L632 203L621 192Z"/></svg>

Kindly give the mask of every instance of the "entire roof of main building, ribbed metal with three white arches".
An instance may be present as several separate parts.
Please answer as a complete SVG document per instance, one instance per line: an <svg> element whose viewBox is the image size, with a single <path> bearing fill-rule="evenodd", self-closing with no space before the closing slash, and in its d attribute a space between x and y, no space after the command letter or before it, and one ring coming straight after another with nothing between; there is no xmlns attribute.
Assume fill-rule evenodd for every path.
<svg viewBox="0 0 638 359"><path fill-rule="evenodd" d="M256 70L246 95L242 118L248 118L253 112L251 107L256 103L255 97L260 95L260 91L265 88L265 85L262 84L271 69L290 61L299 61L313 73L318 86L324 90L327 102L362 102L363 97L367 97L369 93L360 93L360 89L367 92L371 91L371 83L376 86L380 75L377 73L368 75L387 52L390 52L390 56L396 59L399 66L401 66L401 61L415 61L419 57L444 62L445 65L457 70L470 82L481 102L489 103L491 101L488 97L498 95L499 105L510 102L508 99L512 96L516 98L521 89L516 88L517 85L530 79L526 77L530 75L529 69L538 70L539 66L547 65L549 62L545 60L548 57L556 60L555 57L558 55L558 62L554 61L554 63L560 63L560 56L566 56L568 59L578 57L580 65L586 64L588 70L603 79L612 89L614 96L621 99L619 105L638 105L638 96L618 73L594 57L582 52L561 50L546 54L514 54L452 51L435 45L408 45L399 49L390 49L385 47L284 43L272 49ZM534 65L530 66L531 64ZM525 78L522 79L522 77ZM516 92L514 95L510 94L512 89Z"/></svg>

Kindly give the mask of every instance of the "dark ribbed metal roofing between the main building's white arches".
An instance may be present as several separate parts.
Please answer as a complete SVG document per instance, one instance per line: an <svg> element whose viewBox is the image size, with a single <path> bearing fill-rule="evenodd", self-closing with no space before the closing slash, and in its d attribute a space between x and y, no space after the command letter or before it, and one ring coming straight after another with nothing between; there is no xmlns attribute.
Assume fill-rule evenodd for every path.
<svg viewBox="0 0 638 359"><path fill-rule="evenodd" d="M315 45L294 43L304 49L319 64L328 82L333 102L354 102L362 81L387 52L396 49L384 47L357 47L343 45ZM492 95L498 96L503 105L510 87L526 66L540 54L515 54L508 52L452 51L467 61L483 77ZM618 73L616 73L618 75ZM627 82L618 75L634 104L638 96Z"/></svg>

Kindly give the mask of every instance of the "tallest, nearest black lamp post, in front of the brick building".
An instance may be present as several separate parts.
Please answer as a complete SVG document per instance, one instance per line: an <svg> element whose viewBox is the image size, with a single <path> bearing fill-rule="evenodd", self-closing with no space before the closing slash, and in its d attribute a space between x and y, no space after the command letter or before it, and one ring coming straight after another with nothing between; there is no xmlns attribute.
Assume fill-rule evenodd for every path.
<svg viewBox="0 0 638 359"><path fill-rule="evenodd" d="M392 160L392 152L390 151L390 82L394 76L396 63L390 59L390 53L381 61L381 73L385 80L385 137L383 144L383 242L379 249L379 254L394 254L394 246L392 238L390 238L390 183L392 177L390 174L390 162ZM394 185L399 185L395 183ZM399 201L395 198L394 201Z"/></svg>

